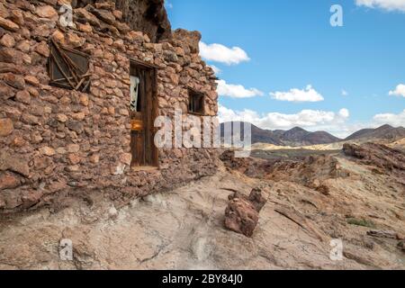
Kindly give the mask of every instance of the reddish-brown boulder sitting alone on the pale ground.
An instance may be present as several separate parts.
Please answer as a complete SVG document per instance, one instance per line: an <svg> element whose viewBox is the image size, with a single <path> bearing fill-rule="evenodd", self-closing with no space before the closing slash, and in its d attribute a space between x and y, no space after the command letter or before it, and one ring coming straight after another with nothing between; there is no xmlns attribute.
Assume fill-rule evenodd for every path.
<svg viewBox="0 0 405 288"><path fill-rule="evenodd" d="M229 195L225 211L225 227L229 230L252 237L259 220L259 212L266 205L267 199L262 190L255 188L247 197L241 193Z"/></svg>

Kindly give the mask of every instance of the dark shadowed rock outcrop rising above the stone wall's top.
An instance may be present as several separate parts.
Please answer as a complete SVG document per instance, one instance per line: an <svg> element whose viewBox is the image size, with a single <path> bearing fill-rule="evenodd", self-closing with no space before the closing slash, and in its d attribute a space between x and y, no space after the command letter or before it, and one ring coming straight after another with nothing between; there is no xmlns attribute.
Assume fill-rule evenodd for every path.
<svg viewBox="0 0 405 288"><path fill-rule="evenodd" d="M103 0L73 0L72 4L75 8L84 8L87 4L101 9L111 7ZM164 0L114 0L114 4L114 17L127 23L132 30L145 32L152 42L171 37ZM111 15L106 16L104 19L112 21Z"/></svg>

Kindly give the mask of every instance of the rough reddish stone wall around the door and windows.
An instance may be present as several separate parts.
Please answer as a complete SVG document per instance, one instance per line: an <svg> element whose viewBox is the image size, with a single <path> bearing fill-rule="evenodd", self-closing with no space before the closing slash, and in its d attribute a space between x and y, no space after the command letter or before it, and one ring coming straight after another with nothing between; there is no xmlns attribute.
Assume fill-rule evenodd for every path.
<svg viewBox="0 0 405 288"><path fill-rule="evenodd" d="M130 58L159 67L158 114L186 113L188 87L206 95L205 114L218 112L199 33L179 30L153 43L110 2L76 8L76 28L63 28L64 2L0 0L0 211L38 207L60 193L125 201L215 173L216 152L195 148L159 150L156 171L130 169ZM89 94L49 85L50 39L90 55Z"/></svg>

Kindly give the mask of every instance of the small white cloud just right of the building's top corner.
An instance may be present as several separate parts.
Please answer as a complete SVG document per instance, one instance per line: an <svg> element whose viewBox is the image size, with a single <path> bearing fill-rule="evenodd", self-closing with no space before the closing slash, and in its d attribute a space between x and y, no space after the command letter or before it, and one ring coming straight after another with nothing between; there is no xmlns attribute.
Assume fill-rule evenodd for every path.
<svg viewBox="0 0 405 288"><path fill-rule="evenodd" d="M227 65L235 65L250 60L247 52L239 47L228 48L221 44L207 45L200 42L200 55L207 61L220 62Z"/></svg>

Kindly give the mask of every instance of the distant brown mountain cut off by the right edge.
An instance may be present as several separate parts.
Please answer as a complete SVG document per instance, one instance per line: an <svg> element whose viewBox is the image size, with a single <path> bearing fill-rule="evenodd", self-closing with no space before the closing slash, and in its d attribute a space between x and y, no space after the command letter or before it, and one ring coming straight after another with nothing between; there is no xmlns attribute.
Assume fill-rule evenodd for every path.
<svg viewBox="0 0 405 288"><path fill-rule="evenodd" d="M345 140L356 139L401 139L405 137L405 128L394 128L390 125L383 125L377 129L364 129L350 135Z"/></svg>

